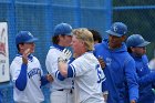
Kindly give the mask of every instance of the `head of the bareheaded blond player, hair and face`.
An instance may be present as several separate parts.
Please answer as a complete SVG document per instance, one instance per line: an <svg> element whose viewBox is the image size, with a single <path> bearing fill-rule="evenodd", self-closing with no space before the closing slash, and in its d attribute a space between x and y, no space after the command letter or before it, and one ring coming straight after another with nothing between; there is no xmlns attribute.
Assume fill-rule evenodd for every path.
<svg viewBox="0 0 155 103"><path fill-rule="evenodd" d="M76 56L93 51L93 34L85 28L74 29L71 44Z"/></svg>

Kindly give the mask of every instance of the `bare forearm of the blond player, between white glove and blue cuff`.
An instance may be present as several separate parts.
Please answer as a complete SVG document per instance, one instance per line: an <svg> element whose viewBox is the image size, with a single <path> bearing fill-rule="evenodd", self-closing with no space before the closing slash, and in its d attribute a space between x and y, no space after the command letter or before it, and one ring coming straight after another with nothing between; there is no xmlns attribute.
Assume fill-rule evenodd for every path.
<svg viewBox="0 0 155 103"><path fill-rule="evenodd" d="M59 71L62 76L66 78L68 76L68 63L59 62Z"/></svg>

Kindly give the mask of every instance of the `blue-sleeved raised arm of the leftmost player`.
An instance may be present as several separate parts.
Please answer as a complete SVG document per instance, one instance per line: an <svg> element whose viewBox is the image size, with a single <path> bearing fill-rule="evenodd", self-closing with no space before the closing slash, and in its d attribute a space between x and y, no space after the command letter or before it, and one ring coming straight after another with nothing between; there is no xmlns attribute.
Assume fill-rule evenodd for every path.
<svg viewBox="0 0 155 103"><path fill-rule="evenodd" d="M27 85L27 68L28 68L28 65L24 63L21 65L20 74L19 74L18 79L16 80L16 86L20 91L23 91Z"/></svg>

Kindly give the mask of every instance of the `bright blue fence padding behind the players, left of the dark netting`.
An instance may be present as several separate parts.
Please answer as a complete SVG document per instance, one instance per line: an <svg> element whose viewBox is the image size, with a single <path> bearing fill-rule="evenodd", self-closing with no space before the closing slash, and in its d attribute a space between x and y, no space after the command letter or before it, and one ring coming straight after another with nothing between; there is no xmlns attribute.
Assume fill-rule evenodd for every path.
<svg viewBox="0 0 155 103"><path fill-rule="evenodd" d="M74 28L97 30L103 38L111 24L111 0L0 0L0 22L8 22L9 63L17 54L16 34L30 31L39 38L34 55L40 60L44 73L45 56L51 45L53 28L61 22ZM0 83L2 103L13 103L11 83ZM43 86L43 103L50 103L50 89Z"/></svg>

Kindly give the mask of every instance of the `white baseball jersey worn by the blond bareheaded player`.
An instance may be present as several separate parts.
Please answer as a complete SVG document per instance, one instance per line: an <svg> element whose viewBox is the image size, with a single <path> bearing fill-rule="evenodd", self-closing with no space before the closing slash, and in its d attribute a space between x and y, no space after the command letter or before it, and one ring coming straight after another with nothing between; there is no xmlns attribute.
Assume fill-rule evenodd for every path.
<svg viewBox="0 0 155 103"><path fill-rule="evenodd" d="M93 53L84 53L70 66L74 75L74 103L104 103L102 82L105 81L105 76Z"/></svg>

